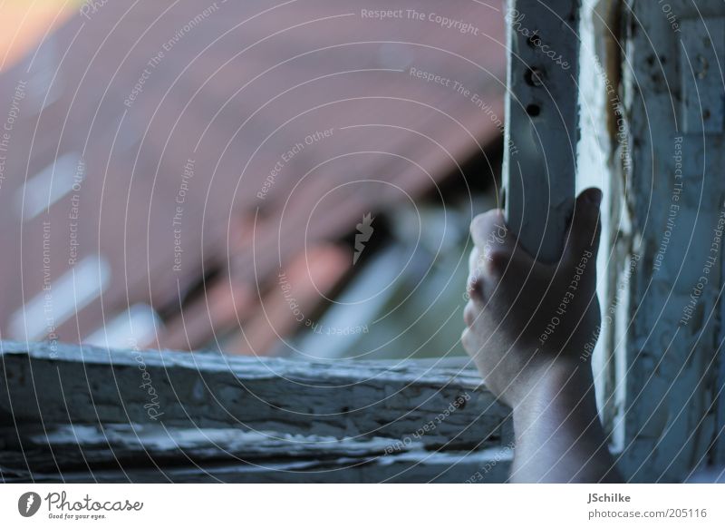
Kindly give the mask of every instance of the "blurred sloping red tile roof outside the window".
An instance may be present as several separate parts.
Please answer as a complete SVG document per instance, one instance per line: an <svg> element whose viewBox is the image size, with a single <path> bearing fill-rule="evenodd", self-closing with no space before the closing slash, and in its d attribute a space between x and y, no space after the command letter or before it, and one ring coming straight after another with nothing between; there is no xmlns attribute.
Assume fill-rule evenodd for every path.
<svg viewBox="0 0 725 528"><path fill-rule="evenodd" d="M241 326L265 353L276 338L262 326L267 303L271 327L292 332L280 269L297 270L314 309L321 297L298 268L305 251L310 275L332 289L352 256L330 243L364 214L459 177L457 163L500 133L500 8L398 8L402 18L379 20L355 2L108 3L0 75L0 109L16 107L0 152L2 336L24 338L19 310L33 298L43 307L44 284L56 295L33 317L64 341L137 303L165 318L162 347L199 347ZM36 176L53 163L57 173ZM23 220L34 202L37 216ZM99 255L110 267L102 296L59 298L73 260ZM202 293L184 301L191 291Z"/></svg>

